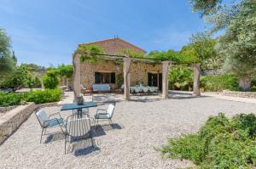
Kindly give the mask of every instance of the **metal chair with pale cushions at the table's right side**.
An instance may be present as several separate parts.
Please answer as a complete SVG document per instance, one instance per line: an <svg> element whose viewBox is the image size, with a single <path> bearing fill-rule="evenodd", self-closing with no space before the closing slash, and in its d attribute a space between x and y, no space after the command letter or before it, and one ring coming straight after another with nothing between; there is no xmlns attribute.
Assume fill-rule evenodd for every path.
<svg viewBox="0 0 256 169"><path fill-rule="evenodd" d="M111 103L108 105L108 110L104 109L97 109L95 115L96 121L96 129L98 127L99 121L109 121L109 124L113 127L112 117L113 117L113 110L115 108L115 103Z"/></svg>

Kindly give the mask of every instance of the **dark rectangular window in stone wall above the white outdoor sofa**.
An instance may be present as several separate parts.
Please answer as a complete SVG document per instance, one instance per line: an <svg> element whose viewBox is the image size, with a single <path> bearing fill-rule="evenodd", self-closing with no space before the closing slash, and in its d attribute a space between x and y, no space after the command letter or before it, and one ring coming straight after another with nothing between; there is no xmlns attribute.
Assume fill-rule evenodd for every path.
<svg viewBox="0 0 256 169"><path fill-rule="evenodd" d="M95 72L95 83L115 83L115 73Z"/></svg>

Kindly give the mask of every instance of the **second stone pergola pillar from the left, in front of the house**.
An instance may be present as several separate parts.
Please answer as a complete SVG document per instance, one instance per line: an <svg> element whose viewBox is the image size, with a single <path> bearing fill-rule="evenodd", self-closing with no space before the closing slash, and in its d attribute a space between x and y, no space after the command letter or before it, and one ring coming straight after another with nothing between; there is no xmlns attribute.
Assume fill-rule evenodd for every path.
<svg viewBox="0 0 256 169"><path fill-rule="evenodd" d="M124 58L124 97L125 100L130 100L130 65L131 59L129 57Z"/></svg>

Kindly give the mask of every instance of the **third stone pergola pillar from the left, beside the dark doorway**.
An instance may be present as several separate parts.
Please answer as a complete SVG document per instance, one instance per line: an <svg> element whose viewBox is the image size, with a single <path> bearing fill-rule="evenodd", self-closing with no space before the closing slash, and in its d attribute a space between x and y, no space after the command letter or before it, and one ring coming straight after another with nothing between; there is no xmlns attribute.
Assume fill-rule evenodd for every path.
<svg viewBox="0 0 256 169"><path fill-rule="evenodd" d="M168 77L170 61L163 61L162 65L162 96L164 99L168 99Z"/></svg>

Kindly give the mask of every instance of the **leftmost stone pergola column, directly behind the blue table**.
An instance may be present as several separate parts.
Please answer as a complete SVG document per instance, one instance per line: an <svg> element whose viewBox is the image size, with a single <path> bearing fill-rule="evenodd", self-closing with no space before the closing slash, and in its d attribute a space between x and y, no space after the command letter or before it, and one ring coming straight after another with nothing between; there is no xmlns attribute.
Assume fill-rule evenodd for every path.
<svg viewBox="0 0 256 169"><path fill-rule="evenodd" d="M80 54L73 54L73 96L74 101L81 93L81 80L80 80Z"/></svg>

